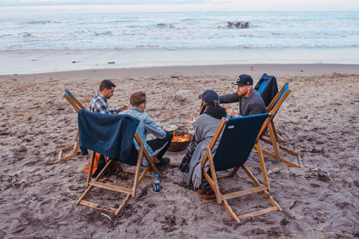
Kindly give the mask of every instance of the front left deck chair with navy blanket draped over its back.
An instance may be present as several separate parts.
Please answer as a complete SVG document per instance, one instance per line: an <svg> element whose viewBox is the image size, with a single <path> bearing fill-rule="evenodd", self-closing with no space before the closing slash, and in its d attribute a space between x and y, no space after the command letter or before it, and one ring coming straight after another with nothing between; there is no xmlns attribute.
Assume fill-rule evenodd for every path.
<svg viewBox="0 0 359 239"><path fill-rule="evenodd" d="M100 123L92 122L91 124L84 124L83 123L84 121L82 120L83 117L87 117L87 115L91 116L93 114L99 115L99 116L95 115L95 117L101 117ZM118 216L118 214L120 214L123 211L123 209L126 207L127 202L129 202L129 200L132 197L135 197L139 184L141 183L141 181L144 179L145 176L154 177L154 174L160 175L158 169L153 163L156 160L156 157L153 158L150 157L149 153L144 147L144 141L141 141L141 139L136 133L136 129L139 124L139 121L131 117L130 115L106 115L106 114L99 114L94 112L86 112L83 110L80 110L78 115L79 115L79 131L80 131L80 148L81 150L83 150L84 148L92 150L93 153L89 165L89 174L87 175L87 189L77 200L77 202L75 202L75 204L86 206L86 207L92 207L94 209L101 209L106 212L114 213L116 216ZM115 120L115 123L113 124L111 120ZM116 120L121 121L120 127L116 127L115 124L118 124ZM96 129L99 128L101 128L101 130L96 131ZM113 133L112 136L109 136L111 135L110 133L111 131L115 131L115 132ZM95 137L93 137L94 132L96 132ZM120 134L122 134L123 136L122 138L116 138L116 140L114 140L113 138L111 139L111 137L117 137ZM135 148L133 139L139 145L139 150ZM109 146L106 149L106 146L108 146L108 144L111 143L111 140L115 142L115 144ZM130 144L132 144L131 146L128 140L130 140ZM122 153L122 151L125 152L125 150L127 150L127 153ZM96 179L92 179L92 169L94 167L94 159L95 159L94 152L101 153L101 155L106 155L108 158L110 158L106 166L103 167L103 169L98 174L98 176L96 176ZM143 156L146 158L146 161L149 163L149 165L144 167L144 169L141 172L141 162ZM135 171L132 172L130 170L123 169L120 162L132 166L136 166ZM107 171L109 167L112 166L117 167L120 170L121 174L122 173L134 174L134 182L132 188L115 186L111 183L104 183L103 181L100 181L103 174ZM149 169L153 170L153 175L147 174L149 172ZM122 203L120 203L120 206L118 208L99 205L97 203L89 202L85 200L89 195L89 193L94 188L104 188L107 190L113 190L118 193L124 193L126 196L125 199L122 201Z"/></svg>

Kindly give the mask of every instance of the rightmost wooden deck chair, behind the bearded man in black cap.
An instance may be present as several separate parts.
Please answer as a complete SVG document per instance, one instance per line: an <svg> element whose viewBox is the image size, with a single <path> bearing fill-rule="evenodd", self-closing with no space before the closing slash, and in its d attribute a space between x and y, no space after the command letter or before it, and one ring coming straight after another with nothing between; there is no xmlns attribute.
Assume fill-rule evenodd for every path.
<svg viewBox="0 0 359 239"><path fill-rule="evenodd" d="M282 89L279 90L275 98L273 98L270 105L268 105L267 112L272 111L276 115L280 106L285 101L286 97L289 96L289 93L291 93L291 90L289 89L288 84L285 83L282 86ZM280 143L288 143L288 142L284 141L284 139L281 136L279 136L279 134L277 134L277 131L275 130L275 123L273 122L273 120L271 120L270 124L268 124L267 131L265 131L265 134L263 134L263 136L260 137L260 140L272 145L272 148L275 151L275 153L270 153L269 151L263 149L262 151L265 155L272 157L275 160L279 160L280 162L284 162L284 164L287 164L291 167L302 167L301 156L298 153L294 152L293 150L290 150L289 148L280 145ZM256 149L256 147L254 147L254 149ZM289 153L290 155L294 155L298 160L298 164L295 164L288 160L284 160L284 158L282 158L279 154L279 149L284 150L286 153Z"/></svg>

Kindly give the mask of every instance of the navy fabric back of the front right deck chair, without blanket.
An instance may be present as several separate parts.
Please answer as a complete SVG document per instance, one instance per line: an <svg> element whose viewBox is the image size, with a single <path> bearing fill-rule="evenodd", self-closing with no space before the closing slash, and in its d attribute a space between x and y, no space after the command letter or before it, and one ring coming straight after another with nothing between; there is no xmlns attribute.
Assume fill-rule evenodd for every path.
<svg viewBox="0 0 359 239"><path fill-rule="evenodd" d="M269 115L264 113L227 120L213 157L216 171L232 169L246 162Z"/></svg>

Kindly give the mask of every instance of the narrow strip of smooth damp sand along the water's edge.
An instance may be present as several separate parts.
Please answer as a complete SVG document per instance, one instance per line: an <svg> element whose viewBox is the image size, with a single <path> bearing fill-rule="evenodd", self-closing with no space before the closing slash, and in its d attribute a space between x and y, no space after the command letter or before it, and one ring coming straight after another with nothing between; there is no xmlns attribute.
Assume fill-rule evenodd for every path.
<svg viewBox="0 0 359 239"><path fill-rule="evenodd" d="M88 69L37 74L0 75L0 81L31 79L33 82L46 82L51 79L73 82L75 79L146 79L156 77L233 77L248 74L260 79L263 73L276 77L325 76L334 73L359 75L359 65L354 64L243 64L243 65L191 65L169 67L134 67L118 69Z"/></svg>

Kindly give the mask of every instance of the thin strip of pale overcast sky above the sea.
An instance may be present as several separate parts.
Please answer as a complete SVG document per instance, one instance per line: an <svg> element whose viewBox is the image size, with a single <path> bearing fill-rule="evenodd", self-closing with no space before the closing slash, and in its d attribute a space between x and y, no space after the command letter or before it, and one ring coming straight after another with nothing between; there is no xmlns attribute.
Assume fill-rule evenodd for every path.
<svg viewBox="0 0 359 239"><path fill-rule="evenodd" d="M99 4L122 11L359 11L359 0L0 0L0 7Z"/></svg>

